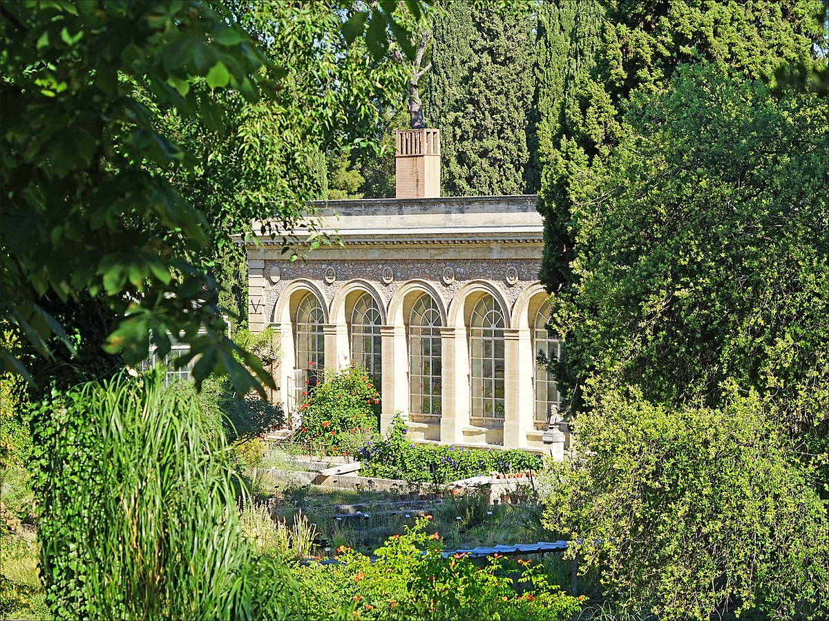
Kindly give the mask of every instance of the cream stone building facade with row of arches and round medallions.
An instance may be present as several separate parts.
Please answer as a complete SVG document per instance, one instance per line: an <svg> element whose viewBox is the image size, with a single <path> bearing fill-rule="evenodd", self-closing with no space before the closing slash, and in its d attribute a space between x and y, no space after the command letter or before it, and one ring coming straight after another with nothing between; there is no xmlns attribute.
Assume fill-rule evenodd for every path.
<svg viewBox="0 0 829 621"><path fill-rule="evenodd" d="M384 431L403 412L422 441L547 452L544 412L559 403L535 362L553 346L538 329L547 296L535 204L534 195L331 201L317 207L342 246L305 262L288 262L276 243L250 246L250 327L271 326L279 339L276 398L293 409L303 383L313 385L313 361L298 358L342 368L366 360L367 343ZM357 329L366 305L371 325Z"/></svg>

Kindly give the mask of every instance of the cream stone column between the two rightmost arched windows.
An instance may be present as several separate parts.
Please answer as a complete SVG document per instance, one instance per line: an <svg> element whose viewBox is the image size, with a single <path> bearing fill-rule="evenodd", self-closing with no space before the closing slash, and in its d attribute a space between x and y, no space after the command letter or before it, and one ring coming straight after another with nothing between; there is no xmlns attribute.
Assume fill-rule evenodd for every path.
<svg viewBox="0 0 829 621"><path fill-rule="evenodd" d="M530 330L504 330L504 446L509 448L526 447L533 428L532 371Z"/></svg>

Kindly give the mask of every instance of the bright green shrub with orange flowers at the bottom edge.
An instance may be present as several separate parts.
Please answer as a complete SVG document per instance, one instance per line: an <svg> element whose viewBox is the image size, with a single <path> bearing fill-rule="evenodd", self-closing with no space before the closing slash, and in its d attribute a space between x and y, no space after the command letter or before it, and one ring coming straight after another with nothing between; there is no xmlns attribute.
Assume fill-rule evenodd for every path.
<svg viewBox="0 0 829 621"><path fill-rule="evenodd" d="M478 567L463 555L444 558L429 516L375 551L376 560L338 549L341 565L299 567L302 614L324 619L570 619L578 600L550 585L530 561L491 559ZM513 588L520 575L523 593Z"/></svg>

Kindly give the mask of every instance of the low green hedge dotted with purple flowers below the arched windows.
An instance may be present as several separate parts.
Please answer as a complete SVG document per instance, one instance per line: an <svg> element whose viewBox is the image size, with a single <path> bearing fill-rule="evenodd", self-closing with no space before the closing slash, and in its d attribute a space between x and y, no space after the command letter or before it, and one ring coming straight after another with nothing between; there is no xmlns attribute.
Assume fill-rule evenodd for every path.
<svg viewBox="0 0 829 621"><path fill-rule="evenodd" d="M385 440L371 441L356 454L363 462L361 474L442 484L491 472L537 470L543 465L539 455L524 450L420 445L406 435L405 422L395 416Z"/></svg>

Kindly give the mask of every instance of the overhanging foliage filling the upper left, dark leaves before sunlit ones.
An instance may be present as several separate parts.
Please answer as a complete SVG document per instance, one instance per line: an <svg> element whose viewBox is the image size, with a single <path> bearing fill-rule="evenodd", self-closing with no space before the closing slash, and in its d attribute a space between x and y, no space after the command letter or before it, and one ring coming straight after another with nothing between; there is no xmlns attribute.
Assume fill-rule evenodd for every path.
<svg viewBox="0 0 829 621"><path fill-rule="evenodd" d="M268 203L291 242L312 191L292 188L313 178L318 142L371 126L361 111L390 82L361 68L385 55L389 29L412 52L405 14L398 2L3 2L2 318L41 358L53 337L74 353L42 301L86 292L116 318L107 349L127 363L182 335L191 351L180 362L198 357L197 382L220 372L240 392L272 384L225 335L203 259ZM368 52L343 56L351 46Z"/></svg>

